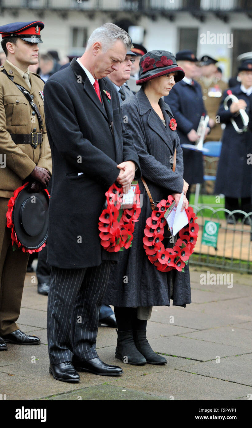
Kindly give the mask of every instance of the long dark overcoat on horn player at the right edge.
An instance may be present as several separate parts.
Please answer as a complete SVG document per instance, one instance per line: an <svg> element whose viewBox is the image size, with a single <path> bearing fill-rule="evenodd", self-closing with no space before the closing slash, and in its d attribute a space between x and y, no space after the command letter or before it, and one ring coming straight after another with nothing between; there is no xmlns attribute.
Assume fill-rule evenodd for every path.
<svg viewBox="0 0 252 428"><path fill-rule="evenodd" d="M240 89L240 85L232 88L232 93L239 100L246 101L246 113L250 115L252 108L252 95L246 95ZM252 166L247 163L247 155L252 153L252 132L248 130L243 134L238 134L232 123L233 118L239 128L242 128L242 121L239 116L235 116L229 110L225 110L223 101L227 92L223 94L217 115L220 116L220 122L226 124L223 132L222 149L218 163L217 177L215 184L215 193L223 193L230 198L249 198L251 195L251 169ZM231 101L228 105L230 107ZM251 118L250 118L251 119Z"/></svg>

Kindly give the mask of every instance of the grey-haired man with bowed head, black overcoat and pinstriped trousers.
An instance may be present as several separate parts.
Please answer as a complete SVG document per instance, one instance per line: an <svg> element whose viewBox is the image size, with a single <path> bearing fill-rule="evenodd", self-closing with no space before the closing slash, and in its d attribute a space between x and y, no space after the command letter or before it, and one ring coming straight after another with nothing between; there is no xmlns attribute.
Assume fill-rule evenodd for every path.
<svg viewBox="0 0 252 428"><path fill-rule="evenodd" d="M50 373L77 382L77 371L118 375L96 353L99 311L111 261L98 222L105 192L118 181L128 192L141 169L107 76L131 48L114 24L91 34L85 53L45 85L45 115L53 159L47 262L52 266L47 336Z"/></svg>

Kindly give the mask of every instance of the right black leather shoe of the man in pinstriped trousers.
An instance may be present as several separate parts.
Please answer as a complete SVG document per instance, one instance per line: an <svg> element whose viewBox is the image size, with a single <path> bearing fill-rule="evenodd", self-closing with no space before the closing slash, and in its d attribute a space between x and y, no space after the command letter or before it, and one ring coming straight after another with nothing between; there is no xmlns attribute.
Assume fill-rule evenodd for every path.
<svg viewBox="0 0 252 428"><path fill-rule="evenodd" d="M109 364L103 363L99 357L89 361L73 361L73 366L77 372L89 372L101 376L116 376L123 373L123 369L118 366L110 366Z"/></svg>

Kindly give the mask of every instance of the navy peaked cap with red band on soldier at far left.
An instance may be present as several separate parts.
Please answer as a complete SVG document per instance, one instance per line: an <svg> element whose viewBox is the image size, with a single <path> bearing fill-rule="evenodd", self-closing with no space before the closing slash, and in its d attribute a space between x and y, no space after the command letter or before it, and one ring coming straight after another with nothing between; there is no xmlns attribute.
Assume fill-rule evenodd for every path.
<svg viewBox="0 0 252 428"><path fill-rule="evenodd" d="M12 22L11 24L2 25L0 34L2 39L6 37L19 37L25 42L43 43L40 37L40 31L43 30L44 23L42 21L29 22Z"/></svg>

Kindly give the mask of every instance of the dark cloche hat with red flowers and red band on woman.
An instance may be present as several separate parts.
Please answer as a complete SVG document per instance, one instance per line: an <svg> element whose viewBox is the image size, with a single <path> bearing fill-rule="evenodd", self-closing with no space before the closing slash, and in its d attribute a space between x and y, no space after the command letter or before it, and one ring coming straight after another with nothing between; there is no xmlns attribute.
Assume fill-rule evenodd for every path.
<svg viewBox="0 0 252 428"><path fill-rule="evenodd" d="M136 81L137 85L142 85L155 77L164 76L164 74L177 72L174 76L175 82L179 82L185 77L184 70L176 63L173 53L167 51L150 51L140 59L140 76Z"/></svg>

